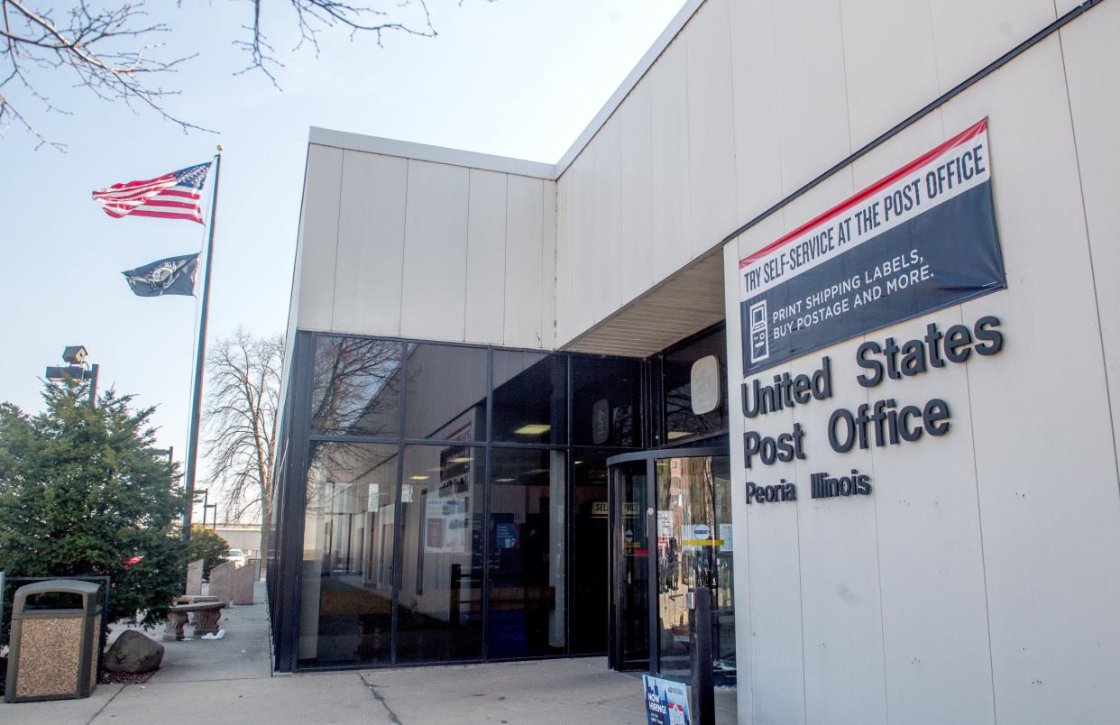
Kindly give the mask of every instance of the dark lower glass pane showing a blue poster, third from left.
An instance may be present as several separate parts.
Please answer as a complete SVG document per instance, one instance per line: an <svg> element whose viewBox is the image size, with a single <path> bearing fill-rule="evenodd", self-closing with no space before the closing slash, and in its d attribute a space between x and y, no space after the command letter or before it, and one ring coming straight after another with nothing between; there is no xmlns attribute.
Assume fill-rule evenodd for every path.
<svg viewBox="0 0 1120 725"><path fill-rule="evenodd" d="M564 651L564 461L562 450L491 452L492 659Z"/></svg>

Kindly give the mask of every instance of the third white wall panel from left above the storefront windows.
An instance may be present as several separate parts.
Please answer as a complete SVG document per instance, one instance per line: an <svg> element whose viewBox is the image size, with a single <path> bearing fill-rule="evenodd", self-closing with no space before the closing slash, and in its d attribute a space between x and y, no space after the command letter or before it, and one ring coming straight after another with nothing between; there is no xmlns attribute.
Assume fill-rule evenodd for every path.
<svg viewBox="0 0 1120 725"><path fill-rule="evenodd" d="M409 161L401 334L461 341L466 291L466 168Z"/></svg>

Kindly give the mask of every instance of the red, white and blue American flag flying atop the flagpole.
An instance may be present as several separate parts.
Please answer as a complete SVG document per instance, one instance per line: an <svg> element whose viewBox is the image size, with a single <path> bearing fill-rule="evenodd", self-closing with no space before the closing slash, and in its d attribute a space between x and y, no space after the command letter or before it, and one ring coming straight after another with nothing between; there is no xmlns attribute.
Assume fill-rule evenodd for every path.
<svg viewBox="0 0 1120 725"><path fill-rule="evenodd" d="M113 184L109 188L95 190L93 198L101 202L105 214L115 219L134 214L186 219L202 224L200 192L209 165L211 161L188 166L144 182Z"/></svg>

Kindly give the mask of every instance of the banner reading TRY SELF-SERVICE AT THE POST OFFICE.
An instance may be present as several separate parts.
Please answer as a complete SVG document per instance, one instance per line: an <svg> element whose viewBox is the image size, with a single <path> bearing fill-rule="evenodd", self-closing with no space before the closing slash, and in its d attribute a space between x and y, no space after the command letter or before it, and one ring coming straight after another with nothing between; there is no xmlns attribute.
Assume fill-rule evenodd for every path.
<svg viewBox="0 0 1120 725"><path fill-rule="evenodd" d="M739 262L743 374L1006 287L984 119Z"/></svg>

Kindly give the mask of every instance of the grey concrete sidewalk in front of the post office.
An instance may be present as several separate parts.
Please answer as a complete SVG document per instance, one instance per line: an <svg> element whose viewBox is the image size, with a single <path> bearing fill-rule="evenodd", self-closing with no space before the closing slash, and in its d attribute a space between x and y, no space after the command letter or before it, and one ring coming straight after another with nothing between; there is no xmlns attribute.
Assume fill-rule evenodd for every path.
<svg viewBox="0 0 1120 725"><path fill-rule="evenodd" d="M222 626L221 640L164 642L164 664L144 685L0 704L0 723L645 723L642 680L612 672L604 658L273 677L263 604L225 610ZM735 723L735 691L718 690L716 701L718 722Z"/></svg>

